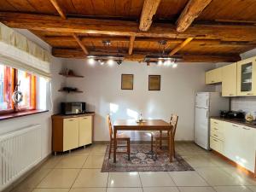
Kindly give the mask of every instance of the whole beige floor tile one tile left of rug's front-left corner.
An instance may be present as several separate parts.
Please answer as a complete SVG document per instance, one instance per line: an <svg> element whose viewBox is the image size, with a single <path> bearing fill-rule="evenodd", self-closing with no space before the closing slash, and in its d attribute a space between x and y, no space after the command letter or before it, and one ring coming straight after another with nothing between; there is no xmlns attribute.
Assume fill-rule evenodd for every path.
<svg viewBox="0 0 256 192"><path fill-rule="evenodd" d="M55 168L82 168L87 156L65 156Z"/></svg>

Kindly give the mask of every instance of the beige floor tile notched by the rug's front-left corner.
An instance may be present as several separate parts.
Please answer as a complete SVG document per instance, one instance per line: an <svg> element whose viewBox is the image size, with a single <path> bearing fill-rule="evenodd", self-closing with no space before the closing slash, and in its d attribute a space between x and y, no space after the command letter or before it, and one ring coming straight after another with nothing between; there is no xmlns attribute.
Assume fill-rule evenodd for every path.
<svg viewBox="0 0 256 192"><path fill-rule="evenodd" d="M108 172L100 169L83 169L73 184L73 188L107 187Z"/></svg>

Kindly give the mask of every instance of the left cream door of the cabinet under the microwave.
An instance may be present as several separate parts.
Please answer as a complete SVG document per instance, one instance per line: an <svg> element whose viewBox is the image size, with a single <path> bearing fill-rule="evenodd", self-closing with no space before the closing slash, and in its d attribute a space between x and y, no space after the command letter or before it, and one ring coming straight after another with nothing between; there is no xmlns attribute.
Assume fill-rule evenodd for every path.
<svg viewBox="0 0 256 192"><path fill-rule="evenodd" d="M63 120L63 151L79 147L79 118Z"/></svg>

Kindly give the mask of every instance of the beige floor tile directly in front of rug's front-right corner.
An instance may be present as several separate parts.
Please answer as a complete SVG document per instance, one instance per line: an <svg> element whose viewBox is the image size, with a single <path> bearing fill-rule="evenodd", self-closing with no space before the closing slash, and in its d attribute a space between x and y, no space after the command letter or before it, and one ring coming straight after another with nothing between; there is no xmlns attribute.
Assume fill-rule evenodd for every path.
<svg viewBox="0 0 256 192"><path fill-rule="evenodd" d="M177 186L208 186L197 172L169 172Z"/></svg>

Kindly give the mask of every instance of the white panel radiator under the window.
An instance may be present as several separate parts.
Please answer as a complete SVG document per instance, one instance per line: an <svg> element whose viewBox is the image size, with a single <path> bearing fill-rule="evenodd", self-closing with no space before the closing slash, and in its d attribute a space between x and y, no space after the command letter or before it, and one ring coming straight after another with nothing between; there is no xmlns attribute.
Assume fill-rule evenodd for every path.
<svg viewBox="0 0 256 192"><path fill-rule="evenodd" d="M0 136L0 191L41 160L41 125Z"/></svg>

